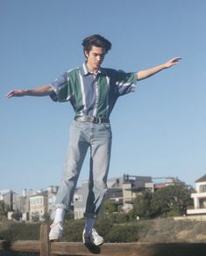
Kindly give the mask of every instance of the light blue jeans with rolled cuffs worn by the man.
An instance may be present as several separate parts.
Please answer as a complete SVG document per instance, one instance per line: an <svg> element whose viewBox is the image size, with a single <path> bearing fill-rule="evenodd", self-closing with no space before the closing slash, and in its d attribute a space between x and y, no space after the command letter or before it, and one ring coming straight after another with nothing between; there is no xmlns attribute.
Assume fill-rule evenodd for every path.
<svg viewBox="0 0 206 256"><path fill-rule="evenodd" d="M56 208L69 210L84 158L90 148L89 194L84 216L96 218L107 191L111 138L110 123L73 121Z"/></svg>

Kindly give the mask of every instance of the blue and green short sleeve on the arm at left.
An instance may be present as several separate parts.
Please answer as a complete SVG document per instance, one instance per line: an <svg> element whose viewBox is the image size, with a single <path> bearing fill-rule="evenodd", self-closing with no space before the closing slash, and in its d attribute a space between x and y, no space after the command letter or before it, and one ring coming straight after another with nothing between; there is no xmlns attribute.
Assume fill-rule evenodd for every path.
<svg viewBox="0 0 206 256"><path fill-rule="evenodd" d="M70 100L72 91L69 84L69 76L68 73L65 72L51 83L53 87L53 93L50 95L50 98L53 99L53 101L59 102Z"/></svg>

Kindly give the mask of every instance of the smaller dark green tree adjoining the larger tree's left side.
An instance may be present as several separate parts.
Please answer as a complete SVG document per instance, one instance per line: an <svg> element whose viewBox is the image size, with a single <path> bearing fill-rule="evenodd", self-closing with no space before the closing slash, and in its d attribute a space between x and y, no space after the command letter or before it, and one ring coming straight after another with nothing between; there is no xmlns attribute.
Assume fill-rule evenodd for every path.
<svg viewBox="0 0 206 256"><path fill-rule="evenodd" d="M138 194L134 200L133 212L136 216L139 217L150 217L151 212L151 200L153 194L148 191L143 191L141 194Z"/></svg>

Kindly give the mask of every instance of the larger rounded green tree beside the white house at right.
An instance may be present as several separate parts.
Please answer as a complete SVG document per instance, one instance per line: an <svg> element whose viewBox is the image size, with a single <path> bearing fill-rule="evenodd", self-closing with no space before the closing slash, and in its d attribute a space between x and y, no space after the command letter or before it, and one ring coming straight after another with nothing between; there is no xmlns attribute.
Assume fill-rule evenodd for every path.
<svg viewBox="0 0 206 256"><path fill-rule="evenodd" d="M190 194L193 188L184 183L157 190L151 200L153 216L171 216L186 214L187 207L192 204Z"/></svg>

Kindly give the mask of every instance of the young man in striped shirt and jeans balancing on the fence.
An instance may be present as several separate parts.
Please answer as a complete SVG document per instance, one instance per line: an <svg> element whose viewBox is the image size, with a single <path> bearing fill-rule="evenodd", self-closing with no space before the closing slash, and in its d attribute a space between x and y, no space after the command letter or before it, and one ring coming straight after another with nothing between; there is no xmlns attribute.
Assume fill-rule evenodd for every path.
<svg viewBox="0 0 206 256"><path fill-rule="evenodd" d="M62 238L65 211L69 210L83 160L89 149L89 194L82 239L84 243L102 245L103 238L94 229L94 223L107 191L112 137L110 113L118 97L135 90L137 80L173 67L181 58L175 57L152 69L125 73L101 68L104 56L111 48L109 40L95 34L85 38L82 46L86 56L82 66L65 72L51 84L30 90L10 91L7 98L49 95L54 101L70 101L75 110L75 120L70 128L66 168L56 197L56 214L49 238Z"/></svg>

